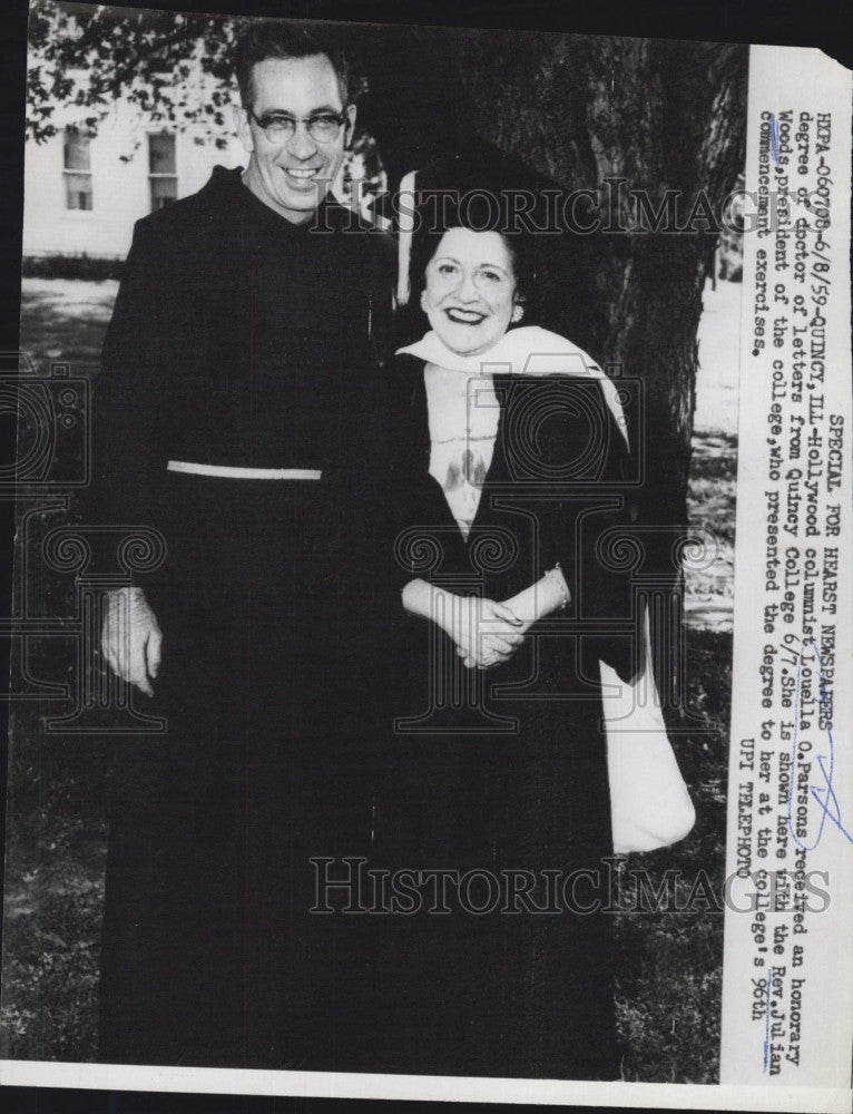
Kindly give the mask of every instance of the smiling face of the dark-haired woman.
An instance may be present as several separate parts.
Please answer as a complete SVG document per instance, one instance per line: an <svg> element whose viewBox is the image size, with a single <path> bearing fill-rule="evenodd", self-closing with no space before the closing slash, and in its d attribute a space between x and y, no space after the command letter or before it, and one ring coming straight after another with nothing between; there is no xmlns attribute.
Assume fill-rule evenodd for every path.
<svg viewBox="0 0 853 1114"><path fill-rule="evenodd" d="M426 264L421 309L451 351L479 355L523 312L512 255L497 232L451 228Z"/></svg>

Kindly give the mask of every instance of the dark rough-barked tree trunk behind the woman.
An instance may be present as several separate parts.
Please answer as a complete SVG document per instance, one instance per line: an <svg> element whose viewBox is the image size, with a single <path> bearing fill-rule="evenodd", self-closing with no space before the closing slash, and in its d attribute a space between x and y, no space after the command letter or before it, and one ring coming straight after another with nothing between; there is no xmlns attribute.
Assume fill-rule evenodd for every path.
<svg viewBox="0 0 853 1114"><path fill-rule="evenodd" d="M493 31L474 32L458 58L479 134L562 189L605 184L605 228L636 227L635 189L655 209L675 189L679 225L695 216L682 234L561 237L594 296L581 314L553 306L555 326L644 384L645 447L636 411L629 421L646 463L640 518L653 525L686 522L696 332L718 233L702 213L719 221L743 169L746 62L742 46Z"/></svg>

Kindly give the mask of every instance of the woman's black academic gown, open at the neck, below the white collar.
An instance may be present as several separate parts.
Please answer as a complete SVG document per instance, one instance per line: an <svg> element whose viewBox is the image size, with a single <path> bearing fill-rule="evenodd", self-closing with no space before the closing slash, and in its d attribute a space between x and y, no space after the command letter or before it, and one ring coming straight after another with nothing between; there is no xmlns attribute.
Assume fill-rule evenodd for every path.
<svg viewBox="0 0 853 1114"><path fill-rule="evenodd" d="M622 439L595 380L496 375L494 452L465 540L428 471L423 369L398 356L385 387L384 576L504 600L559 563L571 602L479 672L398 599L371 844L388 871L378 903L395 909L372 921L374 1066L618 1077L598 662L630 673Z"/></svg>

